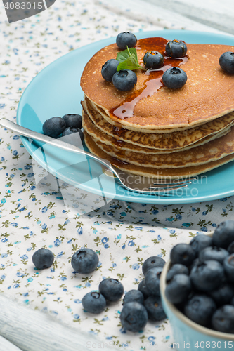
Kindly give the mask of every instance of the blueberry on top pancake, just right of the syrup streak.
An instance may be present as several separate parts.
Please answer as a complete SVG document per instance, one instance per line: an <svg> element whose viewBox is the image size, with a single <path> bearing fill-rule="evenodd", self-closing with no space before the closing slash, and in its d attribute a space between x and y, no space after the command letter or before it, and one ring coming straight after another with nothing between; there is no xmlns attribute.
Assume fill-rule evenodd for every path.
<svg viewBox="0 0 234 351"><path fill-rule="evenodd" d="M186 84L187 74L183 69L172 67L162 74L162 82L167 88L178 89Z"/></svg>

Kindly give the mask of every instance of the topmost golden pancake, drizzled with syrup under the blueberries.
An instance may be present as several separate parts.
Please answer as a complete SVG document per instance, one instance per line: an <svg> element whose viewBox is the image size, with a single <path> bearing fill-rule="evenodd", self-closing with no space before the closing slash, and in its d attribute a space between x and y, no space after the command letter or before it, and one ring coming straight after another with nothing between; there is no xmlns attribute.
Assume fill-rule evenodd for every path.
<svg viewBox="0 0 234 351"><path fill-rule="evenodd" d="M162 38L138 40L139 63L142 64L143 55L150 50L164 55L166 43ZM165 58L164 67L150 72L138 69L136 86L131 91L119 91L101 76L101 67L117 57L119 48L116 44L105 46L84 68L82 90L112 121L141 131L191 128L232 112L234 77L221 69L219 57L225 51L234 51L234 47L214 44L187 44L187 47L188 57ZM169 89L161 83L163 71L171 65L180 66L188 76L180 89Z"/></svg>

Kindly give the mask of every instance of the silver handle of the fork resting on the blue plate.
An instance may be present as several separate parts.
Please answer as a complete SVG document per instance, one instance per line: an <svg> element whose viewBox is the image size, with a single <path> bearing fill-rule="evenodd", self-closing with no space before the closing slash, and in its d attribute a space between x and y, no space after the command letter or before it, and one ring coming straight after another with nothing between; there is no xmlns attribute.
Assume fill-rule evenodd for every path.
<svg viewBox="0 0 234 351"><path fill-rule="evenodd" d="M111 171L115 173L110 162L107 161L106 159L101 159L100 157L95 156L95 155L91 154L90 152L86 152L82 149L79 149L79 147L77 147L77 146L74 146L74 145L69 144L69 143L65 143L63 140L54 139L48 135L32 131L31 129L25 128L23 126L20 126L19 124L16 124L12 121L9 121L9 119L6 119L6 118L0 119L0 126L3 126L4 128L10 129L11 131L15 131L15 133L18 133L18 134L25 136L27 138L39 140L39 141L42 141L43 143L48 143L48 144L55 146L55 147L60 147L60 149L63 149L63 150L75 152L77 154L85 154L86 157L89 157L90 159L95 159L96 161L99 161L101 164L110 168Z"/></svg>

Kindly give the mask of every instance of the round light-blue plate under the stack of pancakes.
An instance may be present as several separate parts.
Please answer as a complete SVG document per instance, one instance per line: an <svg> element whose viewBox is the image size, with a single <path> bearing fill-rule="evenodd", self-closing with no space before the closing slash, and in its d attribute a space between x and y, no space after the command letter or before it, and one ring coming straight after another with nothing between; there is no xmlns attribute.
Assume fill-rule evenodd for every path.
<svg viewBox="0 0 234 351"><path fill-rule="evenodd" d="M164 37L194 44L227 44L234 46L234 37L228 35L190 32L186 30L164 30L140 32L138 39ZM44 121L53 116L63 117L67 113L81 114L80 101L83 92L79 80L86 62L104 46L115 42L115 38L105 39L78 48L43 69L27 86L18 106L17 122L34 131L42 132ZM92 166L96 174L87 176L84 157L75 156L46 145L47 154L41 152L42 143L22 138L27 151L36 161L58 178L93 194L103 194L97 183L101 174L98 164ZM44 145L45 146L45 145ZM85 147L85 145L84 145ZM129 192L105 176L105 196L124 201L148 204L189 204L200 201L221 199L234 194L234 162L216 168L200 176L187 190L180 190L176 196L143 195ZM88 177L88 178L87 178ZM114 184L114 187L113 187Z"/></svg>

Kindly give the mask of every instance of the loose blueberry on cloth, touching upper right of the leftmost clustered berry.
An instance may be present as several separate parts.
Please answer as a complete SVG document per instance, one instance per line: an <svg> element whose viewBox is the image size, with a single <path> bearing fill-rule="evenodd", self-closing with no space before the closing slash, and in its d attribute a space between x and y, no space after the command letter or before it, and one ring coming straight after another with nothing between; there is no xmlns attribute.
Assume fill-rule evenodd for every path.
<svg viewBox="0 0 234 351"><path fill-rule="evenodd" d="M99 284L99 291L106 300L118 301L124 294L124 286L117 279L104 279Z"/></svg>

